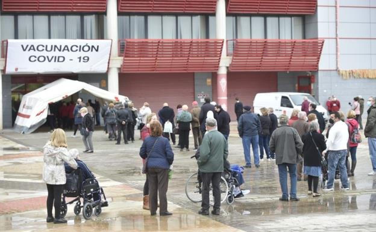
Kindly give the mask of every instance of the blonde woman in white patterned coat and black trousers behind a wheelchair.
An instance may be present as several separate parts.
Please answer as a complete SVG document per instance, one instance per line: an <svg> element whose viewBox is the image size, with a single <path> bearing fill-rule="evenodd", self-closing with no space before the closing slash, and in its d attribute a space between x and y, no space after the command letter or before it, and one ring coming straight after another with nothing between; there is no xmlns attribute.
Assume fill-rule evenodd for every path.
<svg viewBox="0 0 376 232"><path fill-rule="evenodd" d="M65 178L64 161L72 168L77 168L77 162L67 150L67 137L62 129L52 132L50 140L43 147L43 181L47 184L47 222L67 223L60 216L61 194L67 181ZM55 207L55 218L52 215L52 206Z"/></svg>

